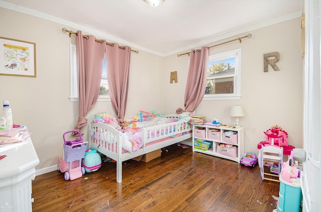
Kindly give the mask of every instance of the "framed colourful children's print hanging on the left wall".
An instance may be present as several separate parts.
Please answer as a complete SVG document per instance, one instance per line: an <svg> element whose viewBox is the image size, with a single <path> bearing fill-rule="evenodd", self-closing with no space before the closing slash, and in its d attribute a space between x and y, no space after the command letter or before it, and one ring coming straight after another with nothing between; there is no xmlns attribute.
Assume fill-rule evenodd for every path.
<svg viewBox="0 0 321 212"><path fill-rule="evenodd" d="M0 37L0 75L36 77L36 43Z"/></svg>

